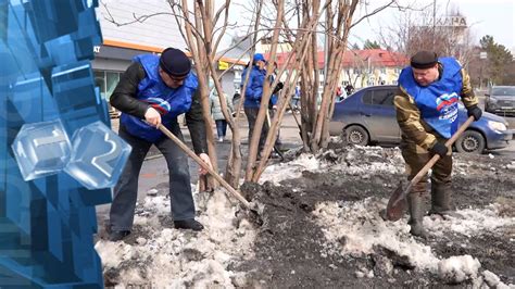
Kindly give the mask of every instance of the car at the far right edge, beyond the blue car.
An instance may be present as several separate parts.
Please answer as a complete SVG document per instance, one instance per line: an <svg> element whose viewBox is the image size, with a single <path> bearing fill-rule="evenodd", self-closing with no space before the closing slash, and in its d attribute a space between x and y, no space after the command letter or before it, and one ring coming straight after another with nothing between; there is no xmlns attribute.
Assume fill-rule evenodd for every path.
<svg viewBox="0 0 515 289"><path fill-rule="evenodd" d="M485 96L485 111L515 116L515 86L492 86Z"/></svg>

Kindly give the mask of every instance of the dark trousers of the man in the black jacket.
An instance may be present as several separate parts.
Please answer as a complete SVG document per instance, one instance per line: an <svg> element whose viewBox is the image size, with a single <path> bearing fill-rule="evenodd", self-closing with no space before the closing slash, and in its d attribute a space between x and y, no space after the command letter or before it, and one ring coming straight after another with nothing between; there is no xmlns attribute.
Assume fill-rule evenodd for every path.
<svg viewBox="0 0 515 289"><path fill-rule="evenodd" d="M168 129L184 140L177 123ZM114 187L113 203L110 212L110 226L112 230L130 230L134 222L134 212L138 198L138 177L150 147L154 144L166 160L169 177L169 200L174 221L194 217L194 203L191 196L188 159L175 142L163 137L155 143L135 137L127 133L121 124L120 137L127 141L133 151L125 168Z"/></svg>

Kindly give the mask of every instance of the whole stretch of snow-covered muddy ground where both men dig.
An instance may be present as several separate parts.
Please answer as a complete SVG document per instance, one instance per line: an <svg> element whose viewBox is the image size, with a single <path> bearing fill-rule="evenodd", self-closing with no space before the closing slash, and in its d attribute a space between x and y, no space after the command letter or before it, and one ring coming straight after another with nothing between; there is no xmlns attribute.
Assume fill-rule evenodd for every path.
<svg viewBox="0 0 515 289"><path fill-rule="evenodd" d="M379 215L405 178L399 149L332 144L332 150L316 158L294 153L290 158L294 161L274 161L276 165L263 175L268 181L241 187L259 205L261 226L238 210L234 198L217 191L194 194L198 219L206 226L203 231L176 230L169 216L168 183L156 185L138 203L130 236L122 242L105 241L103 230L97 236L105 286L488 288L487 284L495 287L497 278L515 284L513 160L455 154L454 204L460 212L470 210L475 219L426 217L431 227L430 238L424 240L407 233L407 216L392 223ZM489 209L492 204L494 210ZM495 226L498 221L506 223ZM466 255L480 263L477 274L468 276L465 268L459 269L465 272L460 281L442 278L441 261ZM454 264L466 263L462 259ZM494 274L488 281L486 271Z"/></svg>

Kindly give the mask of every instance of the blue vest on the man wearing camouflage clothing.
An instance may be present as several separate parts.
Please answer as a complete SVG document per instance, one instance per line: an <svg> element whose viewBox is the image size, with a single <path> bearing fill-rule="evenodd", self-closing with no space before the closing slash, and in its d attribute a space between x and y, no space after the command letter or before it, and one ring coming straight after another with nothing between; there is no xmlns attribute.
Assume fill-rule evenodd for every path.
<svg viewBox="0 0 515 289"><path fill-rule="evenodd" d="M462 66L453 58L441 58L443 72L439 80L427 87L419 86L411 66L402 70L399 86L415 100L422 118L444 138L457 130L457 103L463 87Z"/></svg>

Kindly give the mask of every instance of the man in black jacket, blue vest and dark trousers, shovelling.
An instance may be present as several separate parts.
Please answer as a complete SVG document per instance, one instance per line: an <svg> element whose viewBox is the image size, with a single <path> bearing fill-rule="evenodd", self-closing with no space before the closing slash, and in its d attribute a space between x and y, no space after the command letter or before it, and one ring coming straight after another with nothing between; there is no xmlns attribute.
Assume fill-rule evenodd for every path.
<svg viewBox="0 0 515 289"><path fill-rule="evenodd" d="M161 56L135 56L114 89L111 104L122 111L118 134L133 147L133 151L114 188L109 228L111 241L122 240L130 234L138 196L138 176L152 144L161 151L168 166L175 228L203 229L202 224L194 219L186 154L156 128L163 125L184 140L177 116L186 113L194 152L211 165L205 153L205 126L197 86L197 76L191 73L188 56L178 49L167 48Z"/></svg>

